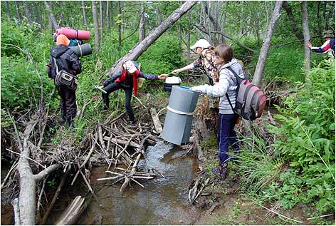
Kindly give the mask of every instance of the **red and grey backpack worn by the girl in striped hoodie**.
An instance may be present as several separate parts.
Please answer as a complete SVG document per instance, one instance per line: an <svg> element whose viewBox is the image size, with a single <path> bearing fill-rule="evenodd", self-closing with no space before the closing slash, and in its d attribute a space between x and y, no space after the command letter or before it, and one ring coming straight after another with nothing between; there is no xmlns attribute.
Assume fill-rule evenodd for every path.
<svg viewBox="0 0 336 226"><path fill-rule="evenodd" d="M232 103L226 93L226 98L234 113L237 113L242 118L246 120L255 120L259 118L266 106L266 96L263 94L258 86L255 86L248 80L248 77L244 74L244 78L240 78L232 68L228 68L229 71L237 79L237 96L236 96L236 107L233 109Z"/></svg>

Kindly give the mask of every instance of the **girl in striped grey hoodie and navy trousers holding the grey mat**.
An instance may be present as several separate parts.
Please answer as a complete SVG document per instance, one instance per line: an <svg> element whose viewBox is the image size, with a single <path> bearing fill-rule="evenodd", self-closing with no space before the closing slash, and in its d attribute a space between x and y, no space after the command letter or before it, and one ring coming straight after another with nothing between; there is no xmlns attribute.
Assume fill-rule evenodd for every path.
<svg viewBox="0 0 336 226"><path fill-rule="evenodd" d="M193 91L199 91L209 96L220 97L219 101L219 168L214 168L214 173L219 173L221 178L226 178L226 169L229 160L229 143L232 145L235 153L238 152L239 145L234 126L238 119L238 114L233 112L236 104L236 89L238 83L236 76L231 72L233 70L237 75L243 78L243 68L238 61L233 58L233 49L231 46L221 44L216 47L215 61L219 66L215 78L214 86L202 85L191 87ZM227 94L227 96L226 96ZM231 101L232 107L228 101Z"/></svg>

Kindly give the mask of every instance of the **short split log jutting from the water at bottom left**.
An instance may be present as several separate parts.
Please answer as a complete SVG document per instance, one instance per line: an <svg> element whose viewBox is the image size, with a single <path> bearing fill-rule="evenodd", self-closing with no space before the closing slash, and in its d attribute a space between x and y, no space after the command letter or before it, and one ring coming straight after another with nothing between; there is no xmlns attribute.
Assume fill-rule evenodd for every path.
<svg viewBox="0 0 336 226"><path fill-rule="evenodd" d="M85 197L76 196L61 217L58 218L55 225L74 225L86 207Z"/></svg>

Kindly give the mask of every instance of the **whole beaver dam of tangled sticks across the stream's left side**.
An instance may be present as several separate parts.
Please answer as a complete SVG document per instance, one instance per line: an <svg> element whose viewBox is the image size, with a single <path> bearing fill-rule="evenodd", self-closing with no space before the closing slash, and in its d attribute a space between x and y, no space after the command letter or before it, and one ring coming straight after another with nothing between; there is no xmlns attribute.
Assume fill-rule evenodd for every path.
<svg viewBox="0 0 336 226"><path fill-rule="evenodd" d="M135 107L135 109L137 108ZM86 132L78 146L74 146L73 140L71 140L72 132L65 132L65 128L63 127L58 128L56 133L69 133L69 136L64 135L64 139L56 145L53 143L41 143L40 140L42 139L40 137L43 133L41 133L41 126L39 126L39 120L36 115L16 120L18 128L26 127L26 130L29 128L29 134L31 134L26 139L27 143L23 144L23 149L30 152L28 165L32 173L38 175L41 170L46 170L47 166L50 167L51 165L55 165L58 168L56 171L56 175L58 175L56 181L59 183L53 183L51 181L52 177L48 178L48 176L44 180L40 180L41 182L36 183L36 216L38 224L46 222L66 181L71 181L70 185L74 185L78 179L83 180L88 190L91 193L94 192L90 185L90 172L93 166L107 167L105 174L101 175L97 180L108 181L112 183L111 185L119 185L120 192L123 192L127 186L132 184L144 188L145 180L164 177L162 173L154 168L150 172L148 170L140 172L137 168L140 158L143 158L145 154L147 146L155 145L157 140L159 140L159 134L162 132L162 123L160 123L157 112L154 108L151 108L149 112L151 113L150 115L148 113L139 114L140 118L137 119L137 125L133 126L128 125L127 120L125 120L127 118L125 112L116 118L112 118L113 114L111 114L104 122L96 122L95 128ZM46 124L50 127L56 125L56 115L49 115L46 118L48 118L47 120L45 119ZM25 120L23 121L23 119ZM46 129L48 125L45 125L44 128L42 126L43 130L48 130ZM24 137L27 134L26 130L23 134L19 133L19 135ZM5 202L1 198L1 204L4 205L4 203L12 204L11 201L15 197L18 197L20 189L22 190L20 188L22 185L19 184L20 175L18 170L16 170L19 156L22 155L14 151L19 149L16 145L15 136L4 134L9 131L1 130L1 132L3 132L3 135L7 135L8 138L3 140L5 143L2 143L2 145L9 147L6 148L8 150L5 153L7 155L6 158L16 159L13 165L11 165L9 172L6 172L6 178L1 183L2 197L7 197ZM192 150L192 144L184 145L180 148L187 150L189 153ZM51 191L46 189L47 187L50 188L46 184L57 187L54 194L51 194ZM75 211L72 210L73 212L68 212L68 214L77 212L79 215L87 204L84 204L83 199L77 198L70 205L72 205L72 209L73 207L76 208ZM70 206L68 209L71 209ZM65 216L65 218L67 217ZM64 221L65 218L59 222L68 224L69 222ZM73 220L70 222L73 223Z"/></svg>

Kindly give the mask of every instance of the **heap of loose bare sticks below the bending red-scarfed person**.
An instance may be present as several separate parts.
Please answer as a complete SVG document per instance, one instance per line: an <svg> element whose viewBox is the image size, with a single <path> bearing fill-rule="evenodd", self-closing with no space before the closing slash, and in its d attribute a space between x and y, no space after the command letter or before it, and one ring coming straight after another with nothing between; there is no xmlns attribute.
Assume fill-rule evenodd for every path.
<svg viewBox="0 0 336 226"><path fill-rule="evenodd" d="M142 155L145 153L146 145L154 145L157 138L152 135L154 125L144 122L142 118L137 121L137 125L127 125L127 121L122 118L125 112L112 119L107 118L105 122L96 122L95 129L85 135L83 145L85 153L75 158L78 172L73 178L73 183L81 174L85 183L90 188L88 175L84 176L82 170L86 173L90 170L85 169L86 163L90 160L90 165L108 165L106 173L113 175L101 180L112 180L113 183L124 181L120 191L123 191L131 181L134 181L142 188L144 187L135 179L152 179L154 174L147 172L138 172L137 165ZM155 131L154 131L155 132ZM123 168L117 167L123 165Z"/></svg>

